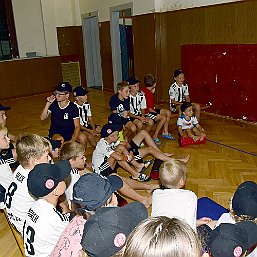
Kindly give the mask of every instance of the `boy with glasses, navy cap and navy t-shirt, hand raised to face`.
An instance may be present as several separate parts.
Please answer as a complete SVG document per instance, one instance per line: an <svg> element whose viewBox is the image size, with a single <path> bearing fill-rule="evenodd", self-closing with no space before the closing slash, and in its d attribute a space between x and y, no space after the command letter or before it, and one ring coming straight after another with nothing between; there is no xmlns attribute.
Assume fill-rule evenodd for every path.
<svg viewBox="0 0 257 257"><path fill-rule="evenodd" d="M56 87L53 95L47 97L45 107L40 115L41 120L51 114L49 137L54 140L76 141L80 133L79 111L69 101L72 86L62 82Z"/></svg>

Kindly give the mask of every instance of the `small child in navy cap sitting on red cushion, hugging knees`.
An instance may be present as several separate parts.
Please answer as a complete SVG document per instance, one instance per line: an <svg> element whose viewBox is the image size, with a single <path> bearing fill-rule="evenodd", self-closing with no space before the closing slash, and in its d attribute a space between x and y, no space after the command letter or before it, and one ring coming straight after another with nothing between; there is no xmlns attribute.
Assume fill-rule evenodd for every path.
<svg viewBox="0 0 257 257"><path fill-rule="evenodd" d="M194 142L203 141L206 134L193 114L192 104L185 102L180 106L180 109L182 115L177 121L179 136L182 138L190 137Z"/></svg>

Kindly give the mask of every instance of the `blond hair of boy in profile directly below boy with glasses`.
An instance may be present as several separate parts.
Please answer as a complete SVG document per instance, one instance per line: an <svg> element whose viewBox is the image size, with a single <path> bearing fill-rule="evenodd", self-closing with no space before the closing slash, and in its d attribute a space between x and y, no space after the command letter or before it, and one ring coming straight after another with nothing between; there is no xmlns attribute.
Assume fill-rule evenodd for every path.
<svg viewBox="0 0 257 257"><path fill-rule="evenodd" d="M85 153L85 148L82 144L77 142L66 142L60 150L61 160L75 160L80 153Z"/></svg>

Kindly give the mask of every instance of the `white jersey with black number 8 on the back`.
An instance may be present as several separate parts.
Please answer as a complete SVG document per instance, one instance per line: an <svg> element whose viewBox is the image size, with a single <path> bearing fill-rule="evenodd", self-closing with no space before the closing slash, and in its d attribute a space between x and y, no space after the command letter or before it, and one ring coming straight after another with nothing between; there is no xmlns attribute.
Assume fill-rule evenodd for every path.
<svg viewBox="0 0 257 257"><path fill-rule="evenodd" d="M15 170L5 195L6 211L12 225L22 234L25 216L35 199L30 195L27 180L30 170L21 165Z"/></svg>

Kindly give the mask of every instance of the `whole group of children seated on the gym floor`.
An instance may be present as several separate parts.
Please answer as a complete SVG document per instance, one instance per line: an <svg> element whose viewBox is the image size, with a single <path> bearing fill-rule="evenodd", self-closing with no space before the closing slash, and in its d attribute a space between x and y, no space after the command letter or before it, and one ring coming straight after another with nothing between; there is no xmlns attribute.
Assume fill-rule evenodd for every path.
<svg viewBox="0 0 257 257"><path fill-rule="evenodd" d="M179 136L203 141L199 105L189 103L181 70L174 72L174 79L170 99L181 111ZM41 119L51 114L50 140L25 133L12 138L15 151L5 127L8 107L0 105L0 150L9 159L17 153L19 162L12 172L8 158L0 155L0 202L23 238L26 256L256 256L257 184L242 183L230 212L217 222L197 219L197 196L184 189L189 156L174 159L158 148L161 129L163 138L173 139L168 131L171 111L155 109L156 80L151 74L144 83L143 93L136 78L118 84L117 94L110 99L112 113L102 128L92 118L88 91L75 88L72 103L72 87L61 83L47 97L41 113ZM154 123L157 127L151 137ZM86 168L87 143L95 148L94 172ZM57 155L54 163L51 157ZM152 164L152 160L143 161L148 155L155 158L150 177L144 174ZM131 176L118 175L118 167ZM160 184L141 183L150 178L159 179ZM136 202L120 204L121 195Z"/></svg>

